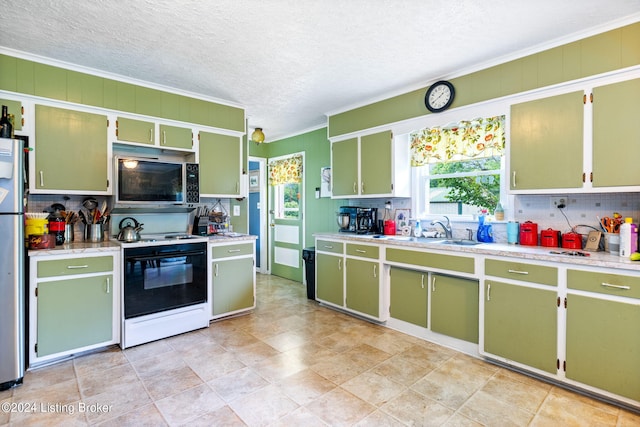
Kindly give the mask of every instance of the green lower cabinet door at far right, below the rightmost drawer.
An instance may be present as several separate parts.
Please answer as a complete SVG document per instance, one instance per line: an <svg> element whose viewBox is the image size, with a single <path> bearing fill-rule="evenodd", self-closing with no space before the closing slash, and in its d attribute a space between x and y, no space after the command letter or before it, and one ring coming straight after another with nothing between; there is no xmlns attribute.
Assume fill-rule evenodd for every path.
<svg viewBox="0 0 640 427"><path fill-rule="evenodd" d="M640 401L640 306L567 296L566 377Z"/></svg>

